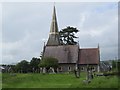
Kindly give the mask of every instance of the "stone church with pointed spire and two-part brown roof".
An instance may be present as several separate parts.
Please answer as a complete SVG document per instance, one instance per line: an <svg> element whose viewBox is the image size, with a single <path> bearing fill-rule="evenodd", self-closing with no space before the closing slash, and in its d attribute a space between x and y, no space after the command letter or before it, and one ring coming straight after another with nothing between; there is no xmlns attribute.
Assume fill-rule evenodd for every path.
<svg viewBox="0 0 120 90"><path fill-rule="evenodd" d="M93 70L99 71L99 46L97 48L80 48L78 44L60 44L55 6L53 8L49 38L43 49L43 57L57 58L59 72L74 71L76 68L84 71L88 65Z"/></svg>

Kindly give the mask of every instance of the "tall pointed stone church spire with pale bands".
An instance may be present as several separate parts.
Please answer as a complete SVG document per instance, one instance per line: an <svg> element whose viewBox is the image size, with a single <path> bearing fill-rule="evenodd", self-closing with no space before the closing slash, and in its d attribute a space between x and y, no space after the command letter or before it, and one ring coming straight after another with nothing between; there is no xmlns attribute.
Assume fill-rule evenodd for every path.
<svg viewBox="0 0 120 90"><path fill-rule="evenodd" d="M57 46L57 45L60 45L60 40L59 40L59 32L58 32L58 25L56 18L56 10L54 6L50 33L46 46Z"/></svg>

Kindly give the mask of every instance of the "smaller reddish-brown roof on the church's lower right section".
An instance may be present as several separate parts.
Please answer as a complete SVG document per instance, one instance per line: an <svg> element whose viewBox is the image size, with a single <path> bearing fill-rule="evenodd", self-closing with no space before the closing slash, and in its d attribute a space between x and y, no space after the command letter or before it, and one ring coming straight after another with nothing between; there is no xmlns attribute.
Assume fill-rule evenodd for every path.
<svg viewBox="0 0 120 90"><path fill-rule="evenodd" d="M79 49L79 64L99 64L99 48Z"/></svg>

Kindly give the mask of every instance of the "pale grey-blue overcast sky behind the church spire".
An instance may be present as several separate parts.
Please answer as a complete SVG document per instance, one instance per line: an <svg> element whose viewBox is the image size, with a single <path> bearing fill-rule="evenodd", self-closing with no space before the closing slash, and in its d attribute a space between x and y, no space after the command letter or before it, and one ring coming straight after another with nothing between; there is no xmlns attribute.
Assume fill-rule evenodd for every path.
<svg viewBox="0 0 120 90"><path fill-rule="evenodd" d="M4 2L0 5L2 64L30 61L39 57L47 42L53 2ZM118 58L117 2L57 2L59 30L79 30L80 48L100 47L100 59Z"/></svg>

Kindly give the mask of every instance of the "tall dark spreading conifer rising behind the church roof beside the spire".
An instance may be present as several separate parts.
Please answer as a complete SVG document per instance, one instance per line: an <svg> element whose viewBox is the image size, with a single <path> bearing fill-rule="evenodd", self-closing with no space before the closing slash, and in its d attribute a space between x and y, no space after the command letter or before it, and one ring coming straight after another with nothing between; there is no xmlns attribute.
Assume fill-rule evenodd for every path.
<svg viewBox="0 0 120 90"><path fill-rule="evenodd" d="M65 45L76 45L77 42L74 40L75 38L78 38L75 36L75 33L79 32L77 28L68 26L67 28L62 29L59 32L60 35L60 42L61 44Z"/></svg>

